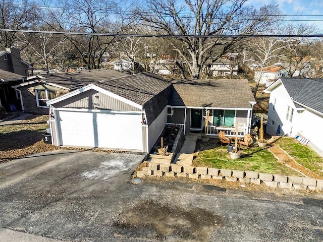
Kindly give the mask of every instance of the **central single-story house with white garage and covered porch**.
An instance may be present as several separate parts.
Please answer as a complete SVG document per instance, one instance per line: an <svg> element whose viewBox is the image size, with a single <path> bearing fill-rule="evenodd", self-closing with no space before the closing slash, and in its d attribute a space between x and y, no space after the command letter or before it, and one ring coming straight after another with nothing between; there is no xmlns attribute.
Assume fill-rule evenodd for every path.
<svg viewBox="0 0 323 242"><path fill-rule="evenodd" d="M170 82L140 73L92 83L50 105L52 144L102 147L148 153L165 125L185 132L249 132L255 103L247 80L181 80Z"/></svg>

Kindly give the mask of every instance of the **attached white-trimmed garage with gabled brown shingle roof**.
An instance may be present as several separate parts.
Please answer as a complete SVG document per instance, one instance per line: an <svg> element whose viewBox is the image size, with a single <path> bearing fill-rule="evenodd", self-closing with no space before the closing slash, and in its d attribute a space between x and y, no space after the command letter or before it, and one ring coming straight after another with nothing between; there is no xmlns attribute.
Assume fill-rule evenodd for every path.
<svg viewBox="0 0 323 242"><path fill-rule="evenodd" d="M170 93L171 83L140 73L51 99L52 144L148 153L166 125Z"/></svg>

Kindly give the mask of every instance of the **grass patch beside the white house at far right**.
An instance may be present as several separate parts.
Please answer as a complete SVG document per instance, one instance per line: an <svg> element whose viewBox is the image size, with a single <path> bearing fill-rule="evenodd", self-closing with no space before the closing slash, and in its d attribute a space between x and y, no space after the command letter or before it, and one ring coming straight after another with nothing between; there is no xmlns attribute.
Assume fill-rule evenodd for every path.
<svg viewBox="0 0 323 242"><path fill-rule="evenodd" d="M323 158L308 146L304 146L293 138L283 137L276 144L284 149L293 159L323 177Z"/></svg>

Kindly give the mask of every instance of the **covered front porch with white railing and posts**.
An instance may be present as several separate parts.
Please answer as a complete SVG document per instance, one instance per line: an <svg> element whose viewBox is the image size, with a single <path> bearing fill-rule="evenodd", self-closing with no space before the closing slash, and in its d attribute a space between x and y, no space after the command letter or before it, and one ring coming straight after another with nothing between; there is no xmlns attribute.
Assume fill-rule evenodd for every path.
<svg viewBox="0 0 323 242"><path fill-rule="evenodd" d="M250 133L252 108L206 108L169 106L167 124L180 126L186 132L201 132L208 136L218 136L224 131L226 136L238 137Z"/></svg>

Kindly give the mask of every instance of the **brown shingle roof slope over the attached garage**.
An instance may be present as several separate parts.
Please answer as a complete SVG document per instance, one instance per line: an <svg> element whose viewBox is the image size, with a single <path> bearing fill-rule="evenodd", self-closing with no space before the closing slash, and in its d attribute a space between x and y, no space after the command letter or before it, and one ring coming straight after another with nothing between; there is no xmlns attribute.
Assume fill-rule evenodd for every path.
<svg viewBox="0 0 323 242"><path fill-rule="evenodd" d="M139 73L94 85L142 105L148 125L166 107L171 94L171 83L152 73Z"/></svg>

